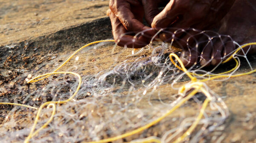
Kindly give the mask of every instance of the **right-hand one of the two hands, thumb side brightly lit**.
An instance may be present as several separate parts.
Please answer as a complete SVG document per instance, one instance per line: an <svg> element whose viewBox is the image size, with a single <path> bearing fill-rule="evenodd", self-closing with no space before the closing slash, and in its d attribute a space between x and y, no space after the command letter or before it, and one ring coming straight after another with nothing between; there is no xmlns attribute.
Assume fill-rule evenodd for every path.
<svg viewBox="0 0 256 143"><path fill-rule="evenodd" d="M166 7L151 23L152 28L195 28L205 30L219 22L229 11L235 0L170 0ZM175 30L160 34L160 39L171 42ZM195 31L175 34L181 48L186 47L186 40L197 34Z"/></svg>

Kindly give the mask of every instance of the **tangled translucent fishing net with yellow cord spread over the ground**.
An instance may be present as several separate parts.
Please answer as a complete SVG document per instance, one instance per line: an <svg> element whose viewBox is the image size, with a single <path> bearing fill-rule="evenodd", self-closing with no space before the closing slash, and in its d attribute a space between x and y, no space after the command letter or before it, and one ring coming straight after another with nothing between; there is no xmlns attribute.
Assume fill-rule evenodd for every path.
<svg viewBox="0 0 256 143"><path fill-rule="evenodd" d="M186 30L177 29L169 43L152 39L146 47L126 54L125 61L119 61L118 56L123 55L115 53L117 47L113 40L93 42L72 56L67 54L51 61L55 64L70 57L63 64L56 64L59 68L52 73L40 69L33 75L28 72L18 77L26 78L34 89L27 92L19 87L24 98L16 101L21 104L15 104L0 125L0 140L6 143L195 143L210 132L223 129L221 125L229 111L222 98L204 81L223 81L255 72L248 60L251 70L236 72L240 67L239 57L247 59L243 48L255 43L239 45L230 36L197 31L183 41L190 49L212 45L216 38L228 39L222 40L222 45L232 42L236 49L224 54L214 68L204 70L204 65L197 62L186 69L177 56L182 53L174 50L182 45L175 36L179 32ZM195 38L198 35L208 38L198 41ZM190 39L194 39L192 45ZM105 47L112 47L107 52L117 55L113 56L113 64L105 63L105 53L97 52ZM239 51L244 54L238 55ZM101 57L96 60L109 64L109 68L99 69L93 61L84 62L89 56ZM233 67L219 73L221 63L230 59L235 60ZM88 68L90 72L84 73Z"/></svg>

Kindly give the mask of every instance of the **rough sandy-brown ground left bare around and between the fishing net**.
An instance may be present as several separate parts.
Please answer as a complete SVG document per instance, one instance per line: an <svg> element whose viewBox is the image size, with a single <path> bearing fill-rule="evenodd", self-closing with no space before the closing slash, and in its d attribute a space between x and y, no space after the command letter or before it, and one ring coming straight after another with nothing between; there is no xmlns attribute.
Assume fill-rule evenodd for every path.
<svg viewBox="0 0 256 143"><path fill-rule="evenodd" d="M55 68L55 63L51 62L53 57L72 53L88 42L112 38L110 20L105 16L107 9L108 1L102 0L0 0L0 102L22 101L24 97L17 96L20 93L17 93L16 84L27 90L24 77L20 77L23 73L42 73L42 69L52 71ZM84 58L81 62L87 62L88 68L79 72L82 75L95 74L112 68L127 59L126 55L131 50L116 47L113 51L110 45L98 48L95 53L81 55L80 58ZM148 52L142 54L148 55ZM255 69L256 56L250 56L249 60L253 61ZM47 62L50 64L42 64ZM244 66L238 73L250 70L245 61L242 63ZM97 68L94 68L95 65ZM67 64L65 68L71 66ZM221 68L220 71L225 71L229 67ZM223 97L230 110L230 116L224 123L225 129L221 131L224 135L222 142L256 143L255 81L256 73L227 81L207 82L215 93ZM168 86L162 86L157 92L168 98ZM12 108L0 105L0 126ZM195 110L187 109L186 112ZM172 115L175 116L177 114ZM164 123L160 126L168 126ZM154 132L160 135L161 127L154 126L148 130L149 135L154 135ZM210 133L202 142L216 142L213 138L217 134Z"/></svg>

